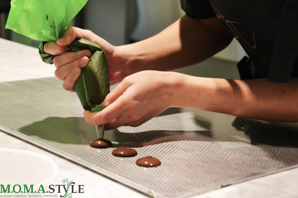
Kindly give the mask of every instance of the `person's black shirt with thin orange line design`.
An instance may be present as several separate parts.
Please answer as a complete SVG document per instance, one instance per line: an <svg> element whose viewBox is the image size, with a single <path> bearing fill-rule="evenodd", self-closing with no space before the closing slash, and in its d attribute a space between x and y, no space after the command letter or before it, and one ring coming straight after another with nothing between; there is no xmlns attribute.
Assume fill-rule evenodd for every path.
<svg viewBox="0 0 298 198"><path fill-rule="evenodd" d="M283 5L284 0L181 0L192 18L217 17L242 45L260 78L268 77ZM291 76L298 77L297 56Z"/></svg>

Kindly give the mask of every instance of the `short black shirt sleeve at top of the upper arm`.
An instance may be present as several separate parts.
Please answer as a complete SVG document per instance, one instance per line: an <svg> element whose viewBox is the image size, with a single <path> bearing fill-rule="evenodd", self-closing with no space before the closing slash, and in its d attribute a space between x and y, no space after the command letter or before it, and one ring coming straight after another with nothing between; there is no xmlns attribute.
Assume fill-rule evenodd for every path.
<svg viewBox="0 0 298 198"><path fill-rule="evenodd" d="M181 8L186 15L195 19L216 17L208 0L180 0Z"/></svg>

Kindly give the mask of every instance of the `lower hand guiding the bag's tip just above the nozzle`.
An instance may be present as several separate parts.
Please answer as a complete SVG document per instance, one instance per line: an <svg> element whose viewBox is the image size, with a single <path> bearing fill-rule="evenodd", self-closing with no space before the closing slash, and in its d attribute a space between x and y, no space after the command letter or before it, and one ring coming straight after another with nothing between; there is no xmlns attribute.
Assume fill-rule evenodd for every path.
<svg viewBox="0 0 298 198"><path fill-rule="evenodd" d="M90 125L139 126L174 104L179 89L179 73L141 71L127 76L107 95L100 112L85 111Z"/></svg>

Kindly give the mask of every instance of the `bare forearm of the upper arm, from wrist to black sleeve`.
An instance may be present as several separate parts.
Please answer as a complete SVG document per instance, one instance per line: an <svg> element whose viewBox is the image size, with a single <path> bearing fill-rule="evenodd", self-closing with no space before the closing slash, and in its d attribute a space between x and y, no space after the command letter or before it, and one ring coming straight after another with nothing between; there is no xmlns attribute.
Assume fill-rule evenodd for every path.
<svg viewBox="0 0 298 198"><path fill-rule="evenodd" d="M115 48L121 57L123 76L142 70L177 70L202 62L226 48L232 35L217 18L180 18L146 40Z"/></svg>

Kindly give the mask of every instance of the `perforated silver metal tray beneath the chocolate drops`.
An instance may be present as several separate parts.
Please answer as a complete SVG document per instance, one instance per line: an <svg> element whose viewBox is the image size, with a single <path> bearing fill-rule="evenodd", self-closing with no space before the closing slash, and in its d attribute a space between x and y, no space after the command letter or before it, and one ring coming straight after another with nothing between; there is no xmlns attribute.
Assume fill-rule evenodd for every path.
<svg viewBox="0 0 298 198"><path fill-rule="evenodd" d="M187 197L298 166L298 127L170 108L145 124L105 132L94 149L77 95L55 78L0 84L0 129L152 197ZM115 147L138 155L114 157ZM145 156L155 168L137 166Z"/></svg>

